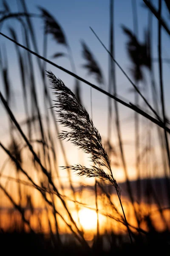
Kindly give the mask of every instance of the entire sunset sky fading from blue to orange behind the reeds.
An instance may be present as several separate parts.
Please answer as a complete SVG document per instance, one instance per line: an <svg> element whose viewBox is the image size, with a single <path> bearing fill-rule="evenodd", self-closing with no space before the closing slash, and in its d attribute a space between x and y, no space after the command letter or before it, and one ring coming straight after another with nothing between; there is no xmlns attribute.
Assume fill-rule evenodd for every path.
<svg viewBox="0 0 170 256"><path fill-rule="evenodd" d="M22 0L6 0L10 12L14 14L23 12L21 2ZM132 72L130 73L130 70L132 71L132 63L126 49L128 38L127 35L123 33L122 26L130 29L132 33L134 32L134 0L114 0L113 2L115 59L133 81L134 76L132 75ZM153 0L152 2L156 9L158 9L159 0ZM3 3L3 0L0 0L0 11L4 9ZM102 87L103 90L108 91L109 55L92 33L90 27L94 29L103 44L105 44L109 49L110 0L25 0L25 3L30 14L40 15L41 11L39 7L41 7L47 10L49 14L56 19L57 23L62 28L66 41L71 49L76 70L72 69L71 61L68 58L68 55L70 54L68 50L69 48L63 44L59 44L57 40L54 40L52 35L49 34L47 35L46 58L57 65L76 73L78 76L90 81L96 86ZM170 28L170 15L165 8L164 1L162 1L162 3L162 17ZM143 0L136 0L136 6L138 39L139 42L144 45L144 35L146 35L144 33L148 29L150 11L148 11L147 6L144 5ZM0 13L0 15L2 15L2 13ZM24 18L25 17L23 17L23 20ZM39 16L31 17L31 21L34 26L38 54L43 56L45 38L44 20ZM28 23L26 24L28 25ZM156 17L152 16L153 30L151 41L153 47L153 58L155 60L155 62L153 62L154 79L158 90L159 110L162 118L159 66L157 61L158 25L158 20ZM24 34L22 34L23 27L21 26L20 21L16 18L11 18L5 20L3 23L0 22L0 32L12 37L9 28L13 28L15 30L17 34L17 41L20 44L25 44ZM30 30L28 27L27 29L28 33L26 34L28 35L30 48L34 51L34 44L30 36ZM170 38L163 28L161 31L165 112L167 119L170 120ZM82 67L83 64L87 64L82 54L82 40L88 46L102 70L105 80L103 85L98 84L95 77L89 75L88 71ZM61 140L57 138L59 133L56 128L58 128L59 131L67 130L68 124L65 125L66 128L63 128L59 123L57 123L58 126L55 126L55 115L53 119L53 112L51 114L50 109L50 103L52 101L48 101L49 99L55 99L55 96L53 89L51 88L51 84L48 81L48 77L46 77L46 82L49 88L49 98L47 95L45 98L43 75L40 72L42 71L42 66L38 66L37 57L31 55L33 60L33 69L31 70L28 66L28 56L24 55L26 54L26 50L20 48L20 52L24 60L24 68L27 68L24 70L26 79L25 98L23 96L24 90L22 87L23 84L16 45L0 35L0 91L2 91L3 96L6 97L5 92L7 86L4 83L3 78L5 73L4 68L8 67L8 78L11 86L11 99L8 102L9 107L12 113L14 113L17 122L20 124L24 134L26 134L29 143L32 146L28 145L29 143L23 139L18 129L12 130L9 115L6 113L3 104L0 104L0 143L5 145L11 154L17 158L17 163L13 163L12 160L14 159L11 160L12 157L10 158L2 147L0 147L0 229L3 228L6 230L9 227L13 227L16 220L19 224L22 223L21 215L15 211L15 208L17 208L19 211L20 209L24 209L24 213L22 213L22 211L20 212L23 215L25 214L26 218L29 219L31 227L33 227L37 232L42 233L49 233L49 230L51 229L50 223L52 225L53 232L58 232L57 221L59 221L59 232L61 232L61 234L69 233L71 232L71 226L74 227L74 223L71 223L73 222L73 218L79 229L85 230L85 239L89 241L93 239L96 234L96 230L98 229L99 234L111 231L114 231L115 233L125 233L127 232L126 225L128 226L129 224L132 224L133 227L131 228L133 229L139 225L138 227L142 227L144 230L147 230L147 218L145 219L145 217L150 217L151 215L153 222L155 223L155 227L158 230L164 230L166 227L166 219L168 220L170 216L169 209L166 209L166 207L169 206L169 202L167 201L167 196L169 194L166 195L167 191L169 192L168 179L153 180L156 177L164 177L164 175L165 177L169 177L169 169L166 168L168 167L168 163L165 163L167 158L164 157L164 154L167 154L167 152L165 147L162 146L164 143L164 133L158 133L159 129L157 129L156 124L151 123L151 121L139 115L139 146L137 147L139 151L135 150L137 137L134 118L135 112L118 103L120 131L125 156L125 161L123 161L124 159L121 155L120 147L121 143L119 143L119 138L121 136L119 137L116 129L117 120L115 118L116 111L113 99L111 99L113 113L112 120L110 121L111 136L108 138L108 96L94 88L91 89L88 84L80 81L82 105L91 116L94 126L99 130L102 137L102 143L106 151L108 150L108 140L110 140L114 149L112 151L112 155L109 156L111 159L110 167L110 162L107 155L103 153L104 151L101 149L101 144L95 142L96 144L94 143L95 146L93 147L91 147L91 143L89 143L90 146L89 144L85 144L87 141L93 142L94 137L97 137L97 140L100 141L99 136L96 135L97 133L95 132L94 136L93 132L91 132L93 136L85 138L87 139L86 141L83 140L84 137L80 137L80 140L83 140L83 142L85 141L84 145L88 145L87 150L91 150L90 152L92 152L92 150L96 150L99 152L97 160L102 159L101 165L100 162L90 162L89 154L85 154L81 150L78 150L78 148L71 144L70 141L67 142L64 140L61 142ZM65 55L59 58L52 58L55 53L64 53ZM164 58L169 59L169 63L164 62ZM7 61L5 61L6 59ZM41 64L45 64L42 60L40 61ZM55 76L59 77L67 87L75 92L76 80L74 77L48 63L44 65L44 73L45 70L51 70ZM116 96L127 103L134 103L135 93L132 90L132 84L130 84L130 81L128 81L127 77L125 77L119 67L116 66L115 70L115 81L117 86ZM150 102L150 105L154 106L153 92L151 88L151 73L146 67L143 68L142 71L144 74L144 81L139 82L139 89L147 101ZM32 82L33 80L31 80L33 75L35 76L35 95L37 96L41 118L39 118L37 114L38 108L34 98L34 83ZM73 101L73 98L70 100ZM29 113L26 111L26 103L28 103ZM71 103L72 102L69 102L70 105ZM67 108L69 104L66 105ZM140 96L139 107L143 111L146 111L148 114L155 117ZM52 111L53 110L55 110L55 108L52 108ZM74 111L69 108L68 111L70 111L69 113L71 113L71 117L73 117L72 112ZM23 125L22 122L26 121L28 116L32 117L34 114L35 116L37 115L38 118L36 116L36 120L31 123L31 129L29 130L28 123L25 122L25 125ZM82 116L84 118L85 115L82 114ZM81 117L76 116L76 118L80 119ZM40 121L42 121L42 125ZM89 123L88 119L88 124ZM81 130L79 129L81 135L82 131L84 134L86 134L87 131L87 129L85 131L83 130L83 125L80 126ZM170 123L167 124L167 126L170 127ZM43 129L44 131L42 131ZM93 129L89 129L89 131L93 131ZM43 133L45 134L44 137ZM31 136L29 137L30 134ZM67 139L68 138L66 138L66 140ZM16 142L17 145L15 149L12 148L12 146L14 146L14 142ZM161 147L164 151L161 151ZM36 155L31 151L32 148L34 149L34 152L36 152ZM164 160L165 165L162 160ZM125 163L124 168L122 164L123 162ZM22 166L23 169L20 168L18 163L20 163L20 166ZM137 166L138 163L139 169ZM79 175L82 176L78 176L75 169L71 169L69 166L74 166L76 164L80 164L78 166ZM67 166L67 168L64 168L63 166ZM87 170L86 175L90 176L89 169L85 169L82 166L91 168L90 175L93 175L92 178L85 177L84 172ZM105 173L102 172L101 169L97 169L99 166ZM165 174L165 172L167 173ZM98 182L98 178L101 177L102 181L100 180L101 182ZM142 180L144 178L146 179ZM129 183L127 182L128 179L130 181ZM152 181L153 184L151 185ZM165 183L165 181L167 183ZM110 186L108 186L108 183ZM132 189L131 191L130 188ZM16 207L17 204L18 207ZM57 210L55 210L55 207ZM161 211L161 207L165 207L165 211ZM125 209L125 212L123 209ZM139 216L136 215L136 212L138 212ZM72 215L72 218L70 214ZM129 224L126 222L125 215L127 216ZM162 216L164 218L162 218ZM138 222L138 217L141 221L141 226ZM122 220L124 220L124 218L125 222L123 224ZM150 223L149 221L150 220L148 220L148 223ZM74 233L77 232L76 225L74 227L76 230ZM148 228L150 227L148 226Z"/></svg>

